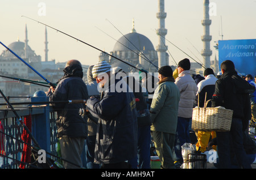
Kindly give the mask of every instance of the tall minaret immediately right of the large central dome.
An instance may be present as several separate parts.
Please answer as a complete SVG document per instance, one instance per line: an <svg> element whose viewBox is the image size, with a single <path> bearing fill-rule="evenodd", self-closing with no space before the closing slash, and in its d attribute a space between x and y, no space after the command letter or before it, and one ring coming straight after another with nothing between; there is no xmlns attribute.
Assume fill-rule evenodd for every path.
<svg viewBox="0 0 256 180"><path fill-rule="evenodd" d="M159 12L156 13L156 18L159 19L159 29L157 29L159 41L156 46L158 52L158 67L169 65L168 56L166 55L166 39L167 29L165 28L164 19L166 18L166 12L164 12L164 0L158 0Z"/></svg>

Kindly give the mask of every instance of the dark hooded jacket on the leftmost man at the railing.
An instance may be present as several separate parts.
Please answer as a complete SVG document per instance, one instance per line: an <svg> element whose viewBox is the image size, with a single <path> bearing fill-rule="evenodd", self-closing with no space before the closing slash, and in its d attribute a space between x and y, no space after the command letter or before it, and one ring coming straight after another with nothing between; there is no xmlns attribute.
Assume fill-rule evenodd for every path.
<svg viewBox="0 0 256 180"><path fill-rule="evenodd" d="M82 67L71 65L64 68L64 76L57 83L53 93L48 92L49 101L87 100L88 91L82 80ZM87 137L86 117L79 115L85 104L56 103L52 104L57 112L57 137Z"/></svg>

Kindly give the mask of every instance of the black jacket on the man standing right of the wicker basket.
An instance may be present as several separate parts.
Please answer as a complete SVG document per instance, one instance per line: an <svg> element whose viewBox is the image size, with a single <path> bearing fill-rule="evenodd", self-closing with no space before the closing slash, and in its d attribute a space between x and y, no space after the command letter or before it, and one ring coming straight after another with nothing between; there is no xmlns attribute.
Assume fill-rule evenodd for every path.
<svg viewBox="0 0 256 180"><path fill-rule="evenodd" d="M233 118L242 119L243 130L251 119L251 103L249 93L255 91L236 71L226 71L217 80L213 94L212 107L222 106L233 110Z"/></svg>

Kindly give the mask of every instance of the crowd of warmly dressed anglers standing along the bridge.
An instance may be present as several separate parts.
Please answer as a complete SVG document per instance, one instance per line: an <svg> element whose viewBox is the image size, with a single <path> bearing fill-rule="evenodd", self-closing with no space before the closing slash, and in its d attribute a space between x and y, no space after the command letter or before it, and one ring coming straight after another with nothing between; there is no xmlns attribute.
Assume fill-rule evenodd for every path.
<svg viewBox="0 0 256 180"><path fill-rule="evenodd" d="M256 77L242 78L229 60L221 63L221 76L211 68L205 69L204 76L191 76L190 68L187 58L175 71L160 67L150 99L147 87L120 67L99 61L88 68L85 84L81 63L68 61L56 88L47 92L49 101L86 100L86 104L52 104L64 168L84 167L81 153L85 148L88 169L150 169L152 142L160 168L180 168L181 147L191 143L193 108L197 102L203 107L210 99L209 107L233 110L231 130L196 131L196 148L201 152L215 149L218 168L232 168L234 162L238 168L251 168L245 135L256 122ZM85 109L84 116L80 109ZM255 155L255 143L252 147Z"/></svg>

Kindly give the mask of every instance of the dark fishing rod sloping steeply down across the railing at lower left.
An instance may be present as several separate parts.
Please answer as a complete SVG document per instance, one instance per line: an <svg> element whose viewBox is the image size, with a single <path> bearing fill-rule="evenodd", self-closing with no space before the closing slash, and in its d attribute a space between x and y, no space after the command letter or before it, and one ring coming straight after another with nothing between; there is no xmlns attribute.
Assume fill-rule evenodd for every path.
<svg viewBox="0 0 256 180"><path fill-rule="evenodd" d="M11 110L13 110L14 115L17 118L17 123L20 123L20 125L22 125L22 127L24 128L24 130L26 130L27 134L30 136L30 138L32 139L32 141L34 142L34 144L36 145L37 148L42 149L39 145L39 143L36 141L36 139L34 138L34 136L31 134L30 130L28 130L28 127L26 125L24 125L22 118L19 117L18 113L14 110L13 106L11 105L11 103L7 100L6 96L3 94L3 92L0 89L0 93L3 96L3 98L5 99L5 101L7 102L8 106L11 108ZM48 157L46 157L46 160L48 162L49 167L52 169L53 165L52 163L49 161Z"/></svg>

